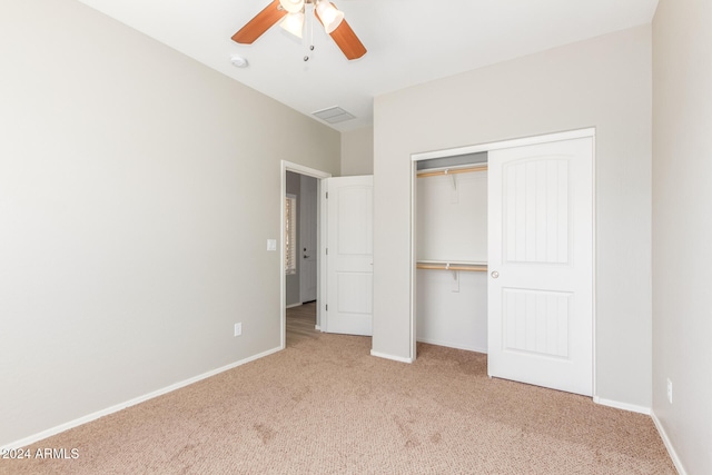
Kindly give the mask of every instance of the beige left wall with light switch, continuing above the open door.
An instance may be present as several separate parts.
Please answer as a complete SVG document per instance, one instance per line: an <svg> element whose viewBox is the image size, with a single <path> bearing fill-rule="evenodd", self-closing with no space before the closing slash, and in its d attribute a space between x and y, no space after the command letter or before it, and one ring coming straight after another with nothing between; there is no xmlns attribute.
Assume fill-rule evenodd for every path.
<svg viewBox="0 0 712 475"><path fill-rule="evenodd" d="M339 133L71 0L0 57L0 446L277 348L280 159Z"/></svg>

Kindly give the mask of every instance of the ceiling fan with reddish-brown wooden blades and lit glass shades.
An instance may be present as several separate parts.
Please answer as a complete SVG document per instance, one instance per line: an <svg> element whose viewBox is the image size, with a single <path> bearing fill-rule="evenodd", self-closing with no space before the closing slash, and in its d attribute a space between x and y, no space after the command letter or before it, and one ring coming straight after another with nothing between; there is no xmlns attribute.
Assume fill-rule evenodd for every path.
<svg viewBox="0 0 712 475"><path fill-rule="evenodd" d="M366 47L348 26L344 13L337 10L329 0L274 0L237 33L233 34L233 40L243 44L251 44L279 20L281 20L279 22L281 28L301 38L307 4L314 7L314 14L348 60L358 59L366 55Z"/></svg>

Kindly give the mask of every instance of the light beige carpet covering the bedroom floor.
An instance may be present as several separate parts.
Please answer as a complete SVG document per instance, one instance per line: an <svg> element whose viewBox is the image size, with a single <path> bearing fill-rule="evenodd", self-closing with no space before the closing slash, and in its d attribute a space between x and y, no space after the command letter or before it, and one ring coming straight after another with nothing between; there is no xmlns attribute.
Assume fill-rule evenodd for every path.
<svg viewBox="0 0 712 475"><path fill-rule="evenodd" d="M1 461L0 473L675 473L647 416L491 379L477 353L375 358L370 338L310 321L284 352L29 447L77 459Z"/></svg>

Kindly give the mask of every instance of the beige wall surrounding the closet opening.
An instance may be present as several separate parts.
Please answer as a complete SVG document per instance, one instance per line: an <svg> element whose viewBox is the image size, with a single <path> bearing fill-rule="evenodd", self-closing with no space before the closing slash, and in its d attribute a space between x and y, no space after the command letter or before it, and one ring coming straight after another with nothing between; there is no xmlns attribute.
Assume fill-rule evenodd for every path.
<svg viewBox="0 0 712 475"><path fill-rule="evenodd" d="M651 406L651 28L375 100L374 353L411 357L411 155L596 128L596 395Z"/></svg>

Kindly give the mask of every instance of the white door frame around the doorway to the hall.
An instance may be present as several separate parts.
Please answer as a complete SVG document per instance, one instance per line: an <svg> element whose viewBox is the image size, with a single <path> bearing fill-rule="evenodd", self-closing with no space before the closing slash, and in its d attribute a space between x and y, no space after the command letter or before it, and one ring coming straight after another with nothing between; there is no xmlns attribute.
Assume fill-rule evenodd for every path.
<svg viewBox="0 0 712 475"><path fill-rule="evenodd" d="M281 160L281 166L279 168L280 171L280 195L279 195L279 327L280 327L280 336L279 336L279 348L285 349L287 346L287 300L286 300L286 276L285 276L285 246L284 246L284 236L285 236L285 197L287 196L287 171L293 171L299 175L306 175L308 177L314 177L318 179L317 182L317 194L319 197L322 196L322 180L325 178L330 178L332 174L317 170L316 168L305 167L299 164L294 164L291 161ZM323 259L322 256L322 246L326 243L326 237L324 232L326 232L326 226L324 226L324 220L322 219L322 199L317 199L317 288L316 288L316 323L317 326L322 321L322 296L326 295L324 286L326 285L326 259Z"/></svg>

